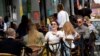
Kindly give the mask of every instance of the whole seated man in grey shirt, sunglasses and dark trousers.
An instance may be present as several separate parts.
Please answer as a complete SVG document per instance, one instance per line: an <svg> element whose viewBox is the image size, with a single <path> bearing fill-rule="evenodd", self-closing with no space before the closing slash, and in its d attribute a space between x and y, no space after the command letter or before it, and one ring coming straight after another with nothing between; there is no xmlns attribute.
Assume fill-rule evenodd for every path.
<svg viewBox="0 0 100 56"><path fill-rule="evenodd" d="M87 48L87 42L89 41L90 31L87 26L84 26L83 24L84 19L82 16L77 16L77 24L78 27L76 27L76 31L80 34L81 38L79 42L76 42L75 44L81 47L81 55L87 55L86 48ZM85 49L83 49L85 48Z"/></svg>

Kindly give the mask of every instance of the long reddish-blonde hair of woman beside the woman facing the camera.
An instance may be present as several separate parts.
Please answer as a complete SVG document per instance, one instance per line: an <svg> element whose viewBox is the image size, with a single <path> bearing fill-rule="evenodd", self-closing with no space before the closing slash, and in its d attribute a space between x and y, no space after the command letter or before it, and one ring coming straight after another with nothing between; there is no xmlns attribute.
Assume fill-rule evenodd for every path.
<svg viewBox="0 0 100 56"><path fill-rule="evenodd" d="M65 22L64 26L63 26L63 30L65 32L65 34L74 34L75 30L73 25L70 22Z"/></svg>

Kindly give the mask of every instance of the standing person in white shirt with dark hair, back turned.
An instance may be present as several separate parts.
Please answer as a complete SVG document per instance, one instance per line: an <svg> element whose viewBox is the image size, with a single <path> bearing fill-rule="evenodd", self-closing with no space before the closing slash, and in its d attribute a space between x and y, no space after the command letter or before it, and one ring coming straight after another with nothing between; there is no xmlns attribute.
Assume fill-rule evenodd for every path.
<svg viewBox="0 0 100 56"><path fill-rule="evenodd" d="M59 28L62 28L64 23L69 20L69 15L66 11L64 11L63 4L58 4L58 15L57 15L57 22L59 23Z"/></svg>

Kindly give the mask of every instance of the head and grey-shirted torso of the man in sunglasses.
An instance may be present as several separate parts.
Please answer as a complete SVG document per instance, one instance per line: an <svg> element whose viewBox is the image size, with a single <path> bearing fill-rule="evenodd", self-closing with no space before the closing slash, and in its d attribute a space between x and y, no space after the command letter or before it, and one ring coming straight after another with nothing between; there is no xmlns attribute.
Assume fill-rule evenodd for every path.
<svg viewBox="0 0 100 56"><path fill-rule="evenodd" d="M78 27L76 27L76 31L81 35L83 34L84 39L88 39L89 29L87 26L84 25L84 20L82 16L77 17L77 24L78 24Z"/></svg>

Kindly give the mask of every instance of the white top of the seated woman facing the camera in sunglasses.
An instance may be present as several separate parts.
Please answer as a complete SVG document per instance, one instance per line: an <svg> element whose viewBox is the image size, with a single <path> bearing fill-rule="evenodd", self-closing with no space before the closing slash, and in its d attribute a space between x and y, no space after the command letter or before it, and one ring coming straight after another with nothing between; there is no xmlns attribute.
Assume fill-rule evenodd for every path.
<svg viewBox="0 0 100 56"><path fill-rule="evenodd" d="M46 33L45 35L45 40L47 41L47 39L49 40L49 43L51 44L55 44L55 43L58 43L58 44L55 44L55 45L49 45L49 48L52 50L52 51L57 51L57 55L56 56L60 56L60 37L62 34L62 31L57 31L55 34L53 34L52 31L49 31Z"/></svg>

